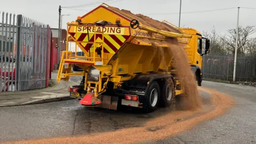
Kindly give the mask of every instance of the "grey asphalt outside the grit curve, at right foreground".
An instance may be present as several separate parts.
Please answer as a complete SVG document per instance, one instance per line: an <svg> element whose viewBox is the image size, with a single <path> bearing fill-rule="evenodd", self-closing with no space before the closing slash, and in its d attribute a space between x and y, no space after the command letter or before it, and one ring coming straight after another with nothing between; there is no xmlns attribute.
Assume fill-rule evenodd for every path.
<svg viewBox="0 0 256 144"><path fill-rule="evenodd" d="M236 105L190 131L147 143L256 143L256 87L207 81L203 86L231 95Z"/></svg>

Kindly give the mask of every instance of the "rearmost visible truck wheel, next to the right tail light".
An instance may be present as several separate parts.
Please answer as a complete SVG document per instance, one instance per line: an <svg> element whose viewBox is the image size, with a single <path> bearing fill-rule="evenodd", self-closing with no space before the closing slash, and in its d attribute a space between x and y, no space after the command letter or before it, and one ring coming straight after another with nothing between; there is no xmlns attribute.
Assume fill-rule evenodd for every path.
<svg viewBox="0 0 256 144"><path fill-rule="evenodd" d="M159 97L160 96L160 88L157 82L153 82L149 85L149 88L147 90L147 95L146 95L146 111L147 112L152 112L156 110L158 102L159 102Z"/></svg>

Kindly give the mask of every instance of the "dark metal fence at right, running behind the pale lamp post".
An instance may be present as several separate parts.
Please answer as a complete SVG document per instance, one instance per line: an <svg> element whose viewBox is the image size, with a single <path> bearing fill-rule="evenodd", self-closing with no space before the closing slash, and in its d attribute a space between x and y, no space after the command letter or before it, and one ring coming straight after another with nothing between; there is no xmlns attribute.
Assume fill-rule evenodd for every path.
<svg viewBox="0 0 256 144"><path fill-rule="evenodd" d="M236 81L256 82L256 54L237 54ZM233 81L234 54L210 52L203 56L203 77Z"/></svg>

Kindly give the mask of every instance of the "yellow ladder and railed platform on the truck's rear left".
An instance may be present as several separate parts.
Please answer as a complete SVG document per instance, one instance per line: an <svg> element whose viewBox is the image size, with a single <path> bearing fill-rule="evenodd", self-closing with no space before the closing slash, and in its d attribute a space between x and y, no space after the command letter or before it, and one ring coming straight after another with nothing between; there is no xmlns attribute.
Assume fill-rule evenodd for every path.
<svg viewBox="0 0 256 144"><path fill-rule="evenodd" d="M68 23L68 27L69 26L81 26L81 25L76 25L74 23ZM86 25L87 27L89 25ZM96 29L96 25L94 25L94 28ZM68 33L68 32L67 32ZM102 36L102 41L101 42L96 42L96 35L97 34L101 34ZM77 35L77 33L76 33ZM103 65L103 60L104 60L104 34L103 32L100 31L96 31L94 30L94 41L93 42L81 42L78 41L78 38L76 36L75 39L73 40L69 40L68 38L68 34L67 34L67 42L66 42L66 51L62 51L61 54L61 60L60 60L60 69L58 71L58 75L57 75L57 81L60 82L61 80L64 81L68 81L70 76L81 76L81 74L84 73L84 71L82 71L81 73L73 73L72 72L72 67L73 65L79 65L79 66L84 66L84 67L90 67L90 66L95 66L95 65ZM88 33L89 36L89 33ZM69 42L75 42L76 43L76 47L75 47L75 56L73 55L72 51L68 51L68 43ZM87 57L87 56L77 56L77 43L85 43L85 44L93 44L93 57ZM79 47L79 46L78 46ZM101 48L101 57L98 58L95 55L95 49L97 47ZM81 47L79 47L80 49L83 49ZM90 52L91 47L89 47L89 55L91 55ZM67 63L67 68L65 68L65 63Z"/></svg>

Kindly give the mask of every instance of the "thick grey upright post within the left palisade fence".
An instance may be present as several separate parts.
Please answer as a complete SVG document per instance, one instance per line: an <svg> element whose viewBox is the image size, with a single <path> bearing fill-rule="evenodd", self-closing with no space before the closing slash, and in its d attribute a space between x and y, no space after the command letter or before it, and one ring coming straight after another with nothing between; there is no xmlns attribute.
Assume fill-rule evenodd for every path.
<svg viewBox="0 0 256 144"><path fill-rule="evenodd" d="M18 15L18 29L17 29L17 46L16 46L16 71L15 71L15 79L17 80L18 84L15 84L17 87L17 91L20 91L20 37L21 37L21 26L22 26L22 15Z"/></svg>

